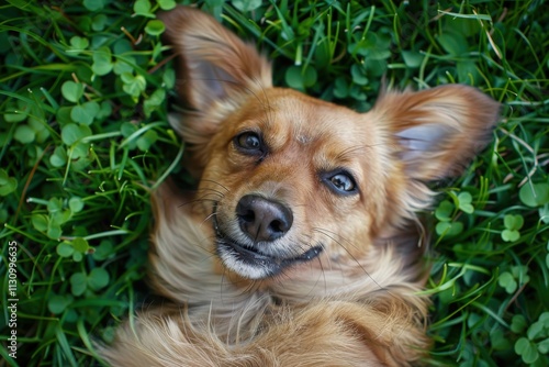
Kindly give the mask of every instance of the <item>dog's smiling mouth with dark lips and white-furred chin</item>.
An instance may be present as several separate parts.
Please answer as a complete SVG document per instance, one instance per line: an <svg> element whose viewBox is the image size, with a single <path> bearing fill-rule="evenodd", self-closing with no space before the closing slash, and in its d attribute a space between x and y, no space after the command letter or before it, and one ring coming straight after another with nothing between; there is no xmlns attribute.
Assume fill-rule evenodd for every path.
<svg viewBox="0 0 549 367"><path fill-rule="evenodd" d="M322 244L311 246L298 256L277 257L261 253L256 246L242 244L225 234L213 216L215 245L217 256L223 264L242 277L249 279L265 279L280 274L282 270L313 260L324 249Z"/></svg>

